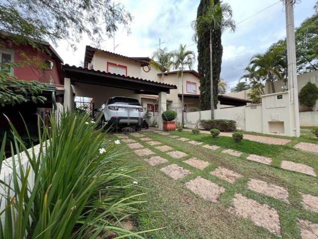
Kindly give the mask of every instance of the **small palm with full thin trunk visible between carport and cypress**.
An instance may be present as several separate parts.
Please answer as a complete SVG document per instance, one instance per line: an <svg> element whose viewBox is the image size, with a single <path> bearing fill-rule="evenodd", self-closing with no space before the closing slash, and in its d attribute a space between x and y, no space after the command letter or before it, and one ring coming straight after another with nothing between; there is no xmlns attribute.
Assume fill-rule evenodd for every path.
<svg viewBox="0 0 318 239"><path fill-rule="evenodd" d="M184 125L183 71L187 68L191 70L195 61L194 52L185 48L186 45L180 44L179 49L173 52L173 68L178 70L178 77L181 77L182 81L182 125Z"/></svg>

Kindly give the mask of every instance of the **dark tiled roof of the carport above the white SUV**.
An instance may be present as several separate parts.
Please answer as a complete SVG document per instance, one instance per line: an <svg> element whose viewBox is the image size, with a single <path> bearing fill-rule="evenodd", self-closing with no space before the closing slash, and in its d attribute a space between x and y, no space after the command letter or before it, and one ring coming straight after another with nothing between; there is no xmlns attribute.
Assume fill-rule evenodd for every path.
<svg viewBox="0 0 318 239"><path fill-rule="evenodd" d="M135 78L114 74L105 71L96 71L93 69L70 66L63 66L65 77L70 78L71 82L81 82L86 84L94 84L134 90L136 94L152 94L158 95L159 92L169 93L172 89L177 89L175 85L164 84L156 81L150 81L142 78Z"/></svg>

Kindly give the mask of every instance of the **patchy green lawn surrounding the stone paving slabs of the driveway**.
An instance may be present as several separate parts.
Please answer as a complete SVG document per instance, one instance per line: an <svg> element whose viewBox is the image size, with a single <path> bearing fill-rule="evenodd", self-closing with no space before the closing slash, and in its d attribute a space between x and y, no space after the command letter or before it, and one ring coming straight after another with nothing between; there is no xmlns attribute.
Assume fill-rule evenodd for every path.
<svg viewBox="0 0 318 239"><path fill-rule="evenodd" d="M192 145L187 142L160 135L154 132L142 132L152 140L168 145L173 150L187 154L181 159L172 158L166 152L159 151L156 146L151 146L140 137L128 135L144 147L151 149L156 155L168 160L168 162L151 166L144 159L151 156L137 156L127 144L122 143L123 157L132 164L143 166L143 170L137 173L137 177L143 178L138 182L137 191L147 193L143 196L147 203L142 206L145 213L134 219L136 231L144 231L155 228L163 228L156 232L145 235L151 239L189 239L189 238L301 238L301 231L297 222L307 220L318 223L318 213L307 210L302 204L301 193L318 196L318 178L294 171L280 168L282 160L303 163L311 166L318 173L318 154L303 152L294 149L293 146L300 139L292 138L293 141L286 145L268 145L264 143L242 140L235 143L231 137L220 136L212 139L211 135L200 133L193 135L189 131L171 132L171 134L186 137L204 144L221 146L217 150ZM316 139L305 136L314 142ZM224 149L233 149L242 152L239 157L222 153ZM246 160L250 154L257 154L272 158L271 165L265 165ZM209 163L203 170L183 162L184 160L197 157ZM177 164L191 173L180 179L172 179L160 169L170 164ZM218 167L233 170L242 177L234 183L230 183L210 174ZM186 187L186 183L201 176L220 187L224 192L216 202L203 199ZM275 199L271 196L258 193L247 188L251 179L262 180L269 184L283 187L288 191L288 202ZM264 227L256 226L251 220L244 219L230 212L236 194L252 199L259 204L268 205L276 210L279 215L280 236L268 231Z"/></svg>

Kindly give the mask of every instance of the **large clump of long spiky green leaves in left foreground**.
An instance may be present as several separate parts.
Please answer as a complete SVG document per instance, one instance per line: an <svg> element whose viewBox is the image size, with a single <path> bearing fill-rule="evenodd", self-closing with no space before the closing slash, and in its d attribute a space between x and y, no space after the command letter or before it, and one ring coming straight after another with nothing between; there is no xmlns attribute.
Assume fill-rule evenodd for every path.
<svg viewBox="0 0 318 239"><path fill-rule="evenodd" d="M10 182L0 182L6 192L0 238L94 239L110 232L141 238L120 227L143 203L133 193L137 180L132 175L139 168L125 166L118 146L88 116L65 112L59 118L56 123L51 117L52 128L41 132L39 127L39 154L34 147L27 150L10 124L12 155L24 151L28 166L18 153L12 157L18 166L12 167ZM4 142L0 163L3 150Z"/></svg>

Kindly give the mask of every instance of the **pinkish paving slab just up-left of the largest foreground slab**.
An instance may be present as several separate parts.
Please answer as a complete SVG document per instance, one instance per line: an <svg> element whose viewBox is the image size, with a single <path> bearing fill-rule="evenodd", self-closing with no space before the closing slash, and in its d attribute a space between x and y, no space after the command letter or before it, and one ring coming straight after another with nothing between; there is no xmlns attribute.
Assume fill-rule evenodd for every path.
<svg viewBox="0 0 318 239"><path fill-rule="evenodd" d="M225 191L224 187L221 187L211 181L204 179L200 176L190 180L186 183L186 187L192 192L200 195L205 200L211 202L217 202L221 193Z"/></svg>

